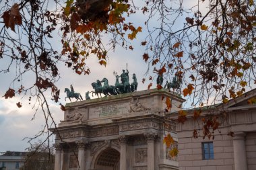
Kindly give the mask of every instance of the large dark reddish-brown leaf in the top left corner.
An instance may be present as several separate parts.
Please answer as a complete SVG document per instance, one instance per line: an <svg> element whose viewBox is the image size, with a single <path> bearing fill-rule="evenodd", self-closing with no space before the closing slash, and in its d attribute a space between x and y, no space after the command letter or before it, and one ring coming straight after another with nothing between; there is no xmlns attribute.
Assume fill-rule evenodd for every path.
<svg viewBox="0 0 256 170"><path fill-rule="evenodd" d="M3 17L6 28L11 28L13 32L15 32L15 25L22 25L22 15L20 15L18 3L14 3L11 9L5 11L1 17Z"/></svg>

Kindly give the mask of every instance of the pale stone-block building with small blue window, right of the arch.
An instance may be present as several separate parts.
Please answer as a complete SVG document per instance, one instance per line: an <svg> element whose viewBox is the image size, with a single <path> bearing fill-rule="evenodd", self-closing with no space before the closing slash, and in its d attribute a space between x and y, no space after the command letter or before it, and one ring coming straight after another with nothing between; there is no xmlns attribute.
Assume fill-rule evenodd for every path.
<svg viewBox="0 0 256 170"><path fill-rule="evenodd" d="M202 137L193 138L193 130L202 126L201 118L195 122L192 118L194 110L187 110L187 122L177 124L179 138L179 170L255 170L256 169L256 105L248 100L256 95L256 90L249 91L236 100L230 100L224 105L216 105L210 109L204 108L201 118L212 114L218 116L222 126L215 130L214 139ZM222 120L225 114L226 119ZM168 116L177 119L178 113ZM212 131L212 130L211 130ZM232 135L228 135L232 132ZM203 144L212 142L212 159L204 159Z"/></svg>

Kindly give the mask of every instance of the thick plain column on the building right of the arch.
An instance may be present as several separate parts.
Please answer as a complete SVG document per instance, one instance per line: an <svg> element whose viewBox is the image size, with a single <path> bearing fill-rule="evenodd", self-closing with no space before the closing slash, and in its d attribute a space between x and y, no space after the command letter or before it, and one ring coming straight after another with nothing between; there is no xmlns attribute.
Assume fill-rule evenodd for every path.
<svg viewBox="0 0 256 170"><path fill-rule="evenodd" d="M245 133L234 134L233 149L234 149L234 169L247 170L247 157L245 148Z"/></svg>

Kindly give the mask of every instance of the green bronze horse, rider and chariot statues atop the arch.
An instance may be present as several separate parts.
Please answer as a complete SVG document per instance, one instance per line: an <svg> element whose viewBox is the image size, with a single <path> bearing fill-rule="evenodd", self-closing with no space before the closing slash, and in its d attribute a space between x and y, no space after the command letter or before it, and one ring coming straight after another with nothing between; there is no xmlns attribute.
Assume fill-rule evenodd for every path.
<svg viewBox="0 0 256 170"><path fill-rule="evenodd" d="M106 79L105 77L102 79L102 81L100 80L96 80L96 82L92 83L92 88L94 89L94 91L87 91L86 92L86 99L90 99L90 93L92 93L92 97L94 95L97 95L97 97L102 97L102 93L104 94L104 96L109 96L109 95L119 95L119 94L123 94L123 93L130 93L130 92L134 92L137 91L137 78L135 73L133 73L133 82L130 84L129 83L129 71L128 69L123 70L123 73L121 75L117 75L117 73L114 71L114 75L116 77L116 81L115 81L115 85L108 85L108 79ZM119 82L119 78L121 78L121 83ZM157 79L156 79L156 83L162 86L162 82L163 82L163 77L162 75L158 75ZM103 83L103 85L102 85ZM166 85L164 85L164 88L169 89L170 88L174 88L174 89L179 89L181 85L181 81L177 80L177 76L175 76L172 79L172 82L168 83L168 81L166 81ZM70 98L75 98L76 101L79 100L83 100L82 95L80 93L75 93L74 89L73 89L73 85L70 85L70 90L68 88L65 88L65 91L67 93L67 97L69 98L69 100L71 101Z"/></svg>

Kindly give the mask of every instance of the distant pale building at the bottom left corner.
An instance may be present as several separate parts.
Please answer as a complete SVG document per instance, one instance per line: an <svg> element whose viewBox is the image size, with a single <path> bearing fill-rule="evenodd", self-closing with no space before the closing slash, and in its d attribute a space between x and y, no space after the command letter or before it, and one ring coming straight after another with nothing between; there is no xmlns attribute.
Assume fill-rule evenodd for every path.
<svg viewBox="0 0 256 170"><path fill-rule="evenodd" d="M0 153L0 168L19 170L24 165L26 152L6 151Z"/></svg>

